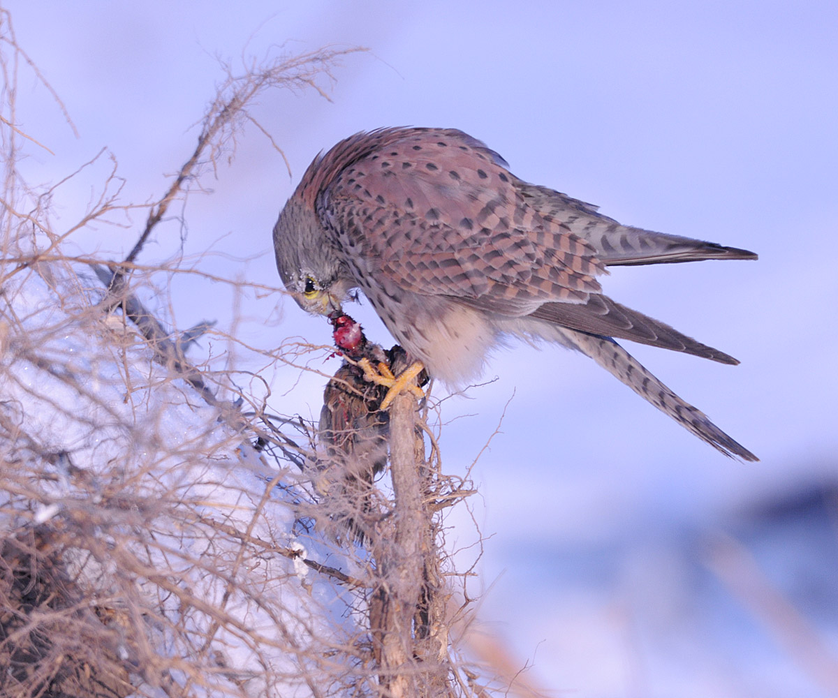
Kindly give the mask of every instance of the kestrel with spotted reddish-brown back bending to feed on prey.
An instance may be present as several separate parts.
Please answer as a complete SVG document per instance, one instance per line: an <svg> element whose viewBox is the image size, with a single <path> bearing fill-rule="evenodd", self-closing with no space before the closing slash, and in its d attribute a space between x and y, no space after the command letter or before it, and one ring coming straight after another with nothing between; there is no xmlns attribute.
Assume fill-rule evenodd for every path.
<svg viewBox="0 0 838 698"><path fill-rule="evenodd" d="M434 378L461 386L510 336L578 349L727 456L757 460L613 338L723 364L727 354L603 295L608 266L757 259L746 250L620 225L528 184L454 129L381 128L320 154L273 230L277 268L310 313L354 288Z"/></svg>

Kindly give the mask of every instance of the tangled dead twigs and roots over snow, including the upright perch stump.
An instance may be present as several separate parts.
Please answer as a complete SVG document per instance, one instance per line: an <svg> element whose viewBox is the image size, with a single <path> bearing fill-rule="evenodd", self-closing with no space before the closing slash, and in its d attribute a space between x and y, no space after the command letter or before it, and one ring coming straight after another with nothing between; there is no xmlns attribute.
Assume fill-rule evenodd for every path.
<svg viewBox="0 0 838 698"><path fill-rule="evenodd" d="M50 204L91 163L57 184L24 181L17 163L43 146L17 126L18 73L54 92L6 11L0 41L0 695L483 695L457 646L471 572L444 545L443 514L470 488L442 472L427 405L396 402L390 467L358 477L354 455L318 443L290 398L277 413L258 371L189 358L202 335L265 367L328 348L253 347L235 328L179 330L159 310L178 274L279 289L199 261L140 261L187 184L200 189L248 129L268 134L254 101L324 94L348 52L283 54L241 75L224 65L163 197L124 202L116 158L99 153L91 163L110 158L110 174L68 223ZM138 211L124 259L66 251L77 231Z"/></svg>

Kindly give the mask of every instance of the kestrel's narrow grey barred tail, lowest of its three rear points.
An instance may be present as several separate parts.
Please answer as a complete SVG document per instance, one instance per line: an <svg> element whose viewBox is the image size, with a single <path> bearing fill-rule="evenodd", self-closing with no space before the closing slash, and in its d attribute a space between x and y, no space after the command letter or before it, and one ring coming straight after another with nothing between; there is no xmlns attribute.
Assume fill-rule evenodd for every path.
<svg viewBox="0 0 838 698"><path fill-rule="evenodd" d="M595 334L556 327L562 341L590 356L603 369L608 370L629 386L639 396L651 402L660 411L672 417L682 427L728 457L758 461L752 452L727 436L704 412L680 399L679 396L654 377L637 359L613 339Z"/></svg>

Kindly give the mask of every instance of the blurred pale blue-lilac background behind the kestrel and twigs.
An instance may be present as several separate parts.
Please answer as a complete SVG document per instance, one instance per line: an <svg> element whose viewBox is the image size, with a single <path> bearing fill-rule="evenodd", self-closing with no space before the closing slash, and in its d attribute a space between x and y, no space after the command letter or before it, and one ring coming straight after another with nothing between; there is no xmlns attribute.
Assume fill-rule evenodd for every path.
<svg viewBox="0 0 838 698"><path fill-rule="evenodd" d="M468 567L478 525L481 628L550 695L838 695L834 2L3 7L78 132L34 79L18 85L18 126L52 152L22 163L30 182L58 182L106 147L123 203L162 195L192 153L220 61L236 75L277 51L369 49L323 81L330 101L313 90L261 101L255 116L290 175L261 132L242 133L235 158L202 180L211 190L140 261L203 256L204 271L279 286L272 225L308 163L396 125L458 127L520 178L623 223L757 251L758 262L618 268L604 286L742 361L629 346L760 463L722 457L581 354L516 345L494 356L487 385L442 405L449 473L465 473L500 423L447 545ZM59 223L80 218L110 168L101 158L55 190ZM118 258L143 223L70 240ZM277 293L242 301L186 276L171 293L181 328L239 318L256 346L331 341ZM369 305L349 312L390 343ZM264 377L277 411L318 414L321 376Z"/></svg>

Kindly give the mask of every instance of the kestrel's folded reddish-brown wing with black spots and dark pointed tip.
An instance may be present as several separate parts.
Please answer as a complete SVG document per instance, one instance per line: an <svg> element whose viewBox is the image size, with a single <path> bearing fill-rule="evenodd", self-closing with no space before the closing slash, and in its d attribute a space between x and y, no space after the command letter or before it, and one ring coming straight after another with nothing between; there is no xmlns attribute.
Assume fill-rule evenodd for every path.
<svg viewBox="0 0 838 698"><path fill-rule="evenodd" d="M406 291L737 363L603 296L595 246L554 209L535 209L501 162L460 132L404 131L329 185L328 223L371 273ZM579 215L597 216L568 200Z"/></svg>

